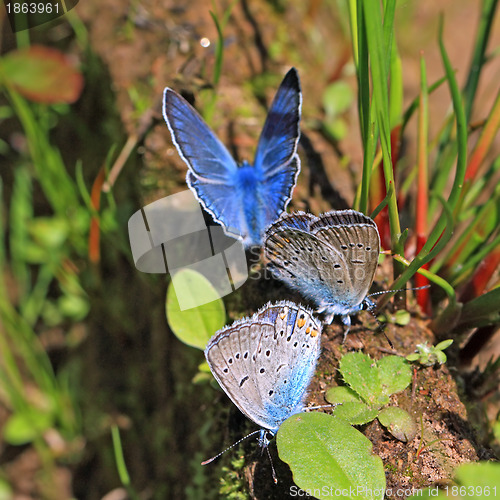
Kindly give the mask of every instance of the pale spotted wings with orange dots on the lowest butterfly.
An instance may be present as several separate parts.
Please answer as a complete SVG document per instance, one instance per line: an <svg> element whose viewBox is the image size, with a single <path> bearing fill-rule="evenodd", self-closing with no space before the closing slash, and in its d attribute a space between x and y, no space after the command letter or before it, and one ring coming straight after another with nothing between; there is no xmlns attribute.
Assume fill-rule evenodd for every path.
<svg viewBox="0 0 500 500"><path fill-rule="evenodd" d="M205 356L233 403L256 424L276 431L302 410L320 349L321 324L292 302L260 309L217 332Z"/></svg>

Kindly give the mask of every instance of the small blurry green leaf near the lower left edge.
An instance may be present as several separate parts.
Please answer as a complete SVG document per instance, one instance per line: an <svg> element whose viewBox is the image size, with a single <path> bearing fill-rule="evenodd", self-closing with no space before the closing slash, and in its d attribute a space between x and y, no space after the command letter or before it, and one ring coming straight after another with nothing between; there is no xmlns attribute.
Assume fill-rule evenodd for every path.
<svg viewBox="0 0 500 500"><path fill-rule="evenodd" d="M52 426L50 412L30 408L29 413L14 413L3 429L4 440L14 446L30 443Z"/></svg>

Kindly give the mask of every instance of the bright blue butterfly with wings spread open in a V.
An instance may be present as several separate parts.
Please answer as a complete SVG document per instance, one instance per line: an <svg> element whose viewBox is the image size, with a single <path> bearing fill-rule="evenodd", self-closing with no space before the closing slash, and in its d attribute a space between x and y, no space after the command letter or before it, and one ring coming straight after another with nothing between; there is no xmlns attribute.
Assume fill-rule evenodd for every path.
<svg viewBox="0 0 500 500"><path fill-rule="evenodd" d="M286 209L300 171L297 155L302 95L297 70L283 79L262 129L255 161L238 165L194 108L166 88L163 117L188 166L186 181L226 234L246 247Z"/></svg>

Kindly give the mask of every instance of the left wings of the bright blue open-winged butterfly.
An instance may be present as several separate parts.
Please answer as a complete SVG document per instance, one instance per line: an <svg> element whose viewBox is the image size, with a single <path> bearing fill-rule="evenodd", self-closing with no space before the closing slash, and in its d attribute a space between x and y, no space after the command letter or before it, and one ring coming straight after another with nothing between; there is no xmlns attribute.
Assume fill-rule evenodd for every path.
<svg viewBox="0 0 500 500"><path fill-rule="evenodd" d="M237 195L238 165L198 112L168 87L163 117L179 155L188 166L186 182L196 198L232 236L246 234Z"/></svg>

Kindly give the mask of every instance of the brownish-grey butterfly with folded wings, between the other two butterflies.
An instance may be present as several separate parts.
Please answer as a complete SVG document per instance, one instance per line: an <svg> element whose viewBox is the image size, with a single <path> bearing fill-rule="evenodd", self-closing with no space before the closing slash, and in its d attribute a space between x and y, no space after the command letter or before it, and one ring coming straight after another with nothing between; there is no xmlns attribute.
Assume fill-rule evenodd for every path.
<svg viewBox="0 0 500 500"><path fill-rule="evenodd" d="M315 302L326 322L340 315L347 331L351 314L374 305L367 293L379 253L375 222L355 210L285 214L266 231L273 274Z"/></svg>

